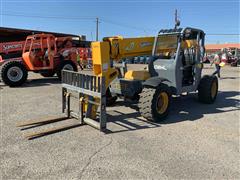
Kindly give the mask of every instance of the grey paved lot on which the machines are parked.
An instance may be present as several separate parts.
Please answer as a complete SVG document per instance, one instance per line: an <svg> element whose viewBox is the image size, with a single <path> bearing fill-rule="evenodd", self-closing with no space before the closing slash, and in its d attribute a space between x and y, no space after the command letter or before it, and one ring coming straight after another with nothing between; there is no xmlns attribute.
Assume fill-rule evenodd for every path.
<svg viewBox="0 0 240 180"><path fill-rule="evenodd" d="M207 66L204 73L213 72ZM61 113L56 78L30 73L19 88L0 84L1 177L5 179L239 179L240 68L224 67L215 104L196 95L174 98L161 123L136 106L108 108L109 133L79 126L27 140L16 123ZM37 128L71 123L62 121Z"/></svg>

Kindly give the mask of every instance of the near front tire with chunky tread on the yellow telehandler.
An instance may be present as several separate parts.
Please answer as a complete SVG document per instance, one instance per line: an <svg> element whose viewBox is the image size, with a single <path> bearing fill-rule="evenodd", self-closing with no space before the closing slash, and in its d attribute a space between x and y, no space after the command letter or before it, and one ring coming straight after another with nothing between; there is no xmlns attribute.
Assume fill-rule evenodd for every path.
<svg viewBox="0 0 240 180"><path fill-rule="evenodd" d="M162 107L160 107L160 110L158 110L158 102L161 94L164 94L164 96L167 98L167 104L164 105L163 111L161 110ZM143 88L140 94L138 107L141 116L149 121L158 122L164 120L167 117L170 104L170 88L165 84L160 84L156 89L151 87Z"/></svg>

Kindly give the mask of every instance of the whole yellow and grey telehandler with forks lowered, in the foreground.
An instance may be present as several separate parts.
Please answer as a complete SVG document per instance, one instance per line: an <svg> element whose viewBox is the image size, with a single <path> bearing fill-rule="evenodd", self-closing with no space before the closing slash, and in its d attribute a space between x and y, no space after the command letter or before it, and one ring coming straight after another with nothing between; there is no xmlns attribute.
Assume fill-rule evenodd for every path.
<svg viewBox="0 0 240 180"><path fill-rule="evenodd" d="M169 113L172 95L198 92L203 103L213 103L218 92L215 76L201 76L205 33L196 28L162 29L156 37L106 37L93 42L92 73L62 71L62 118L76 118L101 131L107 128L106 106L118 97L138 102L139 112L149 121L161 121ZM148 68L128 70L126 63L114 62L126 57L150 56ZM78 94L77 97L74 93ZM79 111L70 107L78 100ZM49 122L51 120L44 120ZM56 121L54 118L53 121ZM22 122L19 126L38 124ZM37 132L28 138L54 132Z"/></svg>

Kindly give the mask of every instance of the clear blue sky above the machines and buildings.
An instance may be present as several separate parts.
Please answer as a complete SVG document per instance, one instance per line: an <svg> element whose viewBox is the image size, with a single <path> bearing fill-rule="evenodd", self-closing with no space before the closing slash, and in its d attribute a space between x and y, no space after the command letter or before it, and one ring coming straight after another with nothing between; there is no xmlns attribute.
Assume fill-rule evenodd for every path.
<svg viewBox="0 0 240 180"><path fill-rule="evenodd" d="M0 0L1 26L86 35L135 37L155 35L174 26L178 9L181 26L207 34L240 34L239 0ZM207 43L239 42L240 36L207 36Z"/></svg>

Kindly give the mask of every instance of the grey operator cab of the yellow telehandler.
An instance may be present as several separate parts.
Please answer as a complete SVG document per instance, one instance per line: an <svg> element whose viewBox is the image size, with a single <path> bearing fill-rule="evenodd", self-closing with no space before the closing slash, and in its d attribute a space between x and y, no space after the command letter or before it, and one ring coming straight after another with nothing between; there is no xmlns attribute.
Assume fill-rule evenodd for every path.
<svg viewBox="0 0 240 180"><path fill-rule="evenodd" d="M167 77L176 93L196 86L201 77L204 56L204 32L194 28L160 30L155 38L152 77ZM185 89L185 90L184 90Z"/></svg>

